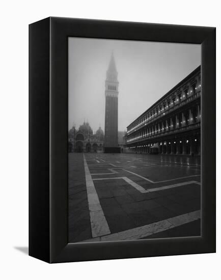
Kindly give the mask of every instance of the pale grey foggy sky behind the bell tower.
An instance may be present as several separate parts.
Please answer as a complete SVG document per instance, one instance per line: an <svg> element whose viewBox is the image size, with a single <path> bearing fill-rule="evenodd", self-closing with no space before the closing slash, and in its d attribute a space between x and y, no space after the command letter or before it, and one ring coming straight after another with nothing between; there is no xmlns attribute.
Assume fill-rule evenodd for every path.
<svg viewBox="0 0 221 280"><path fill-rule="evenodd" d="M69 129L84 120L104 130L105 78L114 52L118 130L126 127L201 64L197 44L69 38Z"/></svg>

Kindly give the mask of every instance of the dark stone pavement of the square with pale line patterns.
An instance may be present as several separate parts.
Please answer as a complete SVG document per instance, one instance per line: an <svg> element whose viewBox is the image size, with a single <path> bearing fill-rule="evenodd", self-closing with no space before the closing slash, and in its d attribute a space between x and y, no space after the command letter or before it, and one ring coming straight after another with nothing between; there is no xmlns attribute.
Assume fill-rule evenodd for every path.
<svg viewBox="0 0 221 280"><path fill-rule="evenodd" d="M69 242L201 235L200 157L69 154Z"/></svg>

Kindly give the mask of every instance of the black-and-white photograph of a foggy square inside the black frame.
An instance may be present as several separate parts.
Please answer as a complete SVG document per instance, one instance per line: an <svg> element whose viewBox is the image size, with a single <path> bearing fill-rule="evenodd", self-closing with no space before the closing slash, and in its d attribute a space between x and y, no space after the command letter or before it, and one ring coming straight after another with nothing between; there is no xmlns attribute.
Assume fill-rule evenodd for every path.
<svg viewBox="0 0 221 280"><path fill-rule="evenodd" d="M68 241L201 236L201 45L68 38Z"/></svg>

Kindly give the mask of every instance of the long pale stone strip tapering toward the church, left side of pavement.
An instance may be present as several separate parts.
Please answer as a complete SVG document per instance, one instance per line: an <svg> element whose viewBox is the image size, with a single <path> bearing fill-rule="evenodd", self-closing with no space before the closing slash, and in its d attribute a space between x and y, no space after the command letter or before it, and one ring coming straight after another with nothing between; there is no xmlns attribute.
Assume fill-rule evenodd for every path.
<svg viewBox="0 0 221 280"><path fill-rule="evenodd" d="M85 164L85 179L88 195L88 207L90 211L92 237L110 234L106 218L104 216L93 180L91 178L85 155L83 156Z"/></svg>

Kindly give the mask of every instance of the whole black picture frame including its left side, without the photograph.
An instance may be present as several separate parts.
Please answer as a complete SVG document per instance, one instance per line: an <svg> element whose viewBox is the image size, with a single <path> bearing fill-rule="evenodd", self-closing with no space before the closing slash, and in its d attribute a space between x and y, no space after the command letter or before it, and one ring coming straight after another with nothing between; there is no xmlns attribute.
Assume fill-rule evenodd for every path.
<svg viewBox="0 0 221 280"><path fill-rule="evenodd" d="M49 17L29 36L29 255L59 263L214 253L215 28ZM201 237L68 243L68 37L201 44Z"/></svg>

